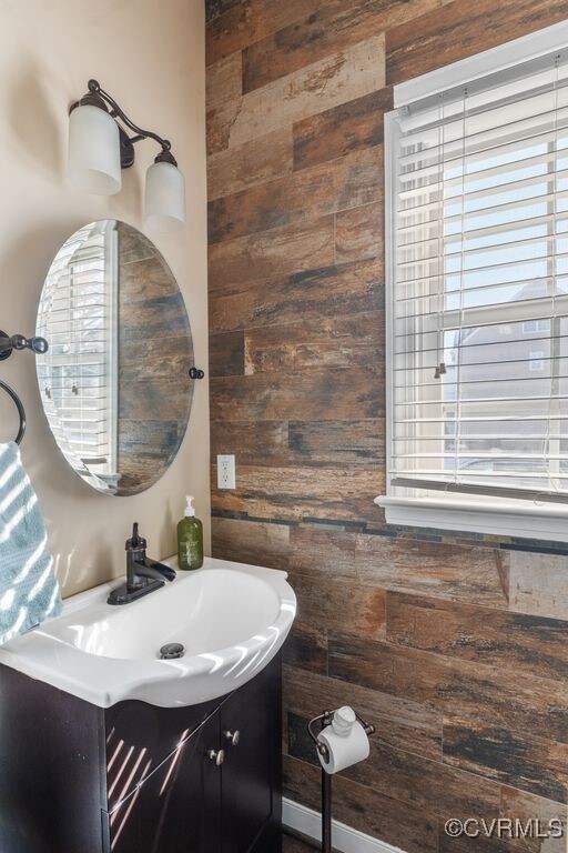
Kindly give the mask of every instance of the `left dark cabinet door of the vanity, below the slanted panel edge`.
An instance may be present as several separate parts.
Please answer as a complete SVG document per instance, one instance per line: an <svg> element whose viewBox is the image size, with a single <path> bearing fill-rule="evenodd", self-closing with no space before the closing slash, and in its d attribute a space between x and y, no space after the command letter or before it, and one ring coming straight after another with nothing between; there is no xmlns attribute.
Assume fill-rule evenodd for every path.
<svg viewBox="0 0 568 853"><path fill-rule="evenodd" d="M105 815L110 853L221 853L219 714ZM138 771L144 774L144 756Z"/></svg>

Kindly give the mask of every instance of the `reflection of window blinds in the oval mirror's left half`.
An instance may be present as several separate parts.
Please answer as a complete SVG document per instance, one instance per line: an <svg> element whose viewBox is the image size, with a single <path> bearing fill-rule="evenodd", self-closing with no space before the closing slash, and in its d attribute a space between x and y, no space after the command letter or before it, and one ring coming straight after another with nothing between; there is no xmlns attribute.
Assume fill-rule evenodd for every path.
<svg viewBox="0 0 568 853"><path fill-rule="evenodd" d="M74 468L116 473L118 252L113 223L85 225L52 264L38 325L50 350L38 364L50 426Z"/></svg>

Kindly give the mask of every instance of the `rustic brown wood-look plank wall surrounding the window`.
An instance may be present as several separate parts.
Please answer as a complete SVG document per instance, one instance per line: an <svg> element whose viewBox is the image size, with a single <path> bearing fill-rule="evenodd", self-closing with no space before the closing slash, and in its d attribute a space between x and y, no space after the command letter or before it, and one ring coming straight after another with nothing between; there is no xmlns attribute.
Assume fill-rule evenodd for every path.
<svg viewBox="0 0 568 853"><path fill-rule="evenodd" d="M393 83L551 24L566 0L209 0L217 556L290 572L285 784L317 806L305 720L355 704L372 757L339 820L408 853L450 816L566 817L568 556L386 528L383 113ZM212 472L212 482L215 475Z"/></svg>

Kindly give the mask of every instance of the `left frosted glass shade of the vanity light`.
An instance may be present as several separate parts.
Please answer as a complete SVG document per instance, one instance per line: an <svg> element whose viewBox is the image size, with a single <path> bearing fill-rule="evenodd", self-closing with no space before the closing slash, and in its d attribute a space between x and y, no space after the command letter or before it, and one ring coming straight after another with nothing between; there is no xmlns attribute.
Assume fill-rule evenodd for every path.
<svg viewBox="0 0 568 853"><path fill-rule="evenodd" d="M68 174L74 187L95 195L121 188L119 128L99 107L75 107L69 117Z"/></svg>

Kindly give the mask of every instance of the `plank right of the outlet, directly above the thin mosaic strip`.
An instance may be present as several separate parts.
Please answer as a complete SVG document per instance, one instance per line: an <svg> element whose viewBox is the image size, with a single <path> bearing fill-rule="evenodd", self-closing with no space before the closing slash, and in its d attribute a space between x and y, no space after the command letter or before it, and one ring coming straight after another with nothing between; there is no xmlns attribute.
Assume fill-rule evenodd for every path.
<svg viewBox="0 0 568 853"><path fill-rule="evenodd" d="M216 381L216 380L215 380ZM213 510L255 518L362 521L374 514L382 471L237 465L236 489L212 488Z"/></svg>

